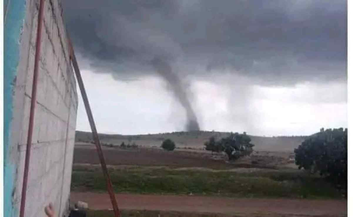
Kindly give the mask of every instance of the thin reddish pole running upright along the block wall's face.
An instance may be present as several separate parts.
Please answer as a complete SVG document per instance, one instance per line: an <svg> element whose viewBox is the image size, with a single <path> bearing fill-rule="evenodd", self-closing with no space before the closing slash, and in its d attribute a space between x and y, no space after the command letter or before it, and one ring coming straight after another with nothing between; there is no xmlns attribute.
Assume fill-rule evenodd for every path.
<svg viewBox="0 0 353 217"><path fill-rule="evenodd" d="M24 208L26 206L28 170L29 170L29 162L31 157L32 135L33 135L33 125L34 125L34 110L36 107L36 99L37 99L37 80L38 80L38 65L39 65L40 51L41 51L41 38L42 38L42 27L43 27L42 24L43 24L43 11L44 11L43 9L44 9L44 0L40 0L39 13L38 13L37 38L36 38L36 54L34 58L34 70L33 70L31 109L29 113L26 157L25 157L25 163L24 163L24 173L23 173L23 183L22 183L20 217L24 216Z"/></svg>

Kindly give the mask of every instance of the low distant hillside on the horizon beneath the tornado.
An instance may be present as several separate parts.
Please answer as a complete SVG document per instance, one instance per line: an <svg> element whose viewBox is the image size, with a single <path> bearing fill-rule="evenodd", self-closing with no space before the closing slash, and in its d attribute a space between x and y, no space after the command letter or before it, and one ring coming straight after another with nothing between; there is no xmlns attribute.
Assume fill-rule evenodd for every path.
<svg viewBox="0 0 353 217"><path fill-rule="evenodd" d="M191 132L171 132L163 134L146 134L146 135L120 135L120 134L99 134L102 143L120 145L122 142L136 143L143 146L157 146L159 147L163 140L169 138L173 140L177 147L192 147L203 148L211 136L217 139L226 137L228 132L214 132L214 131L191 131ZM251 142L255 144L254 149L265 151L293 151L306 136L251 136ZM93 141L91 132L76 131L76 142L91 142Z"/></svg>

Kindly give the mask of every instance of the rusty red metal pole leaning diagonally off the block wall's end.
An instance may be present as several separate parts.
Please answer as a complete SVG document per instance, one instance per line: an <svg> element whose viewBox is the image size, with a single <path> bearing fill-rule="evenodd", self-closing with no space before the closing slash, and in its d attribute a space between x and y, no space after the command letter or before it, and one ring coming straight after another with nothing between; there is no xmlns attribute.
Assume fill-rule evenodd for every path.
<svg viewBox="0 0 353 217"><path fill-rule="evenodd" d="M89 123L91 125L93 139L95 141L98 157L99 157L99 160L101 162L103 175L104 175L104 178L106 179L107 189L108 189L110 201L112 202L114 215L115 215L115 217L120 217L119 208L118 208L118 204L116 203L116 198L115 198L115 194L114 194L114 190L113 190L112 181L110 180L110 176L109 176L109 173L108 173L106 161L104 160L103 151L102 151L102 148L101 148L101 143L99 141L98 132L97 132L97 129L96 129L96 124L94 123L91 107L89 105L88 97L87 97L87 94L86 94L86 90L85 90L85 87L83 85L80 69L78 68L78 64L77 64L77 61L76 61L75 54L73 52L73 47L72 47L70 39L68 39L68 41L69 41L69 47L70 47L71 62L72 62L72 65L73 65L73 68L74 68L74 71L75 71L75 74L76 74L76 79L77 79L78 86L79 86L80 91L81 91L83 103L84 103L85 108L86 108L88 120L89 120Z"/></svg>

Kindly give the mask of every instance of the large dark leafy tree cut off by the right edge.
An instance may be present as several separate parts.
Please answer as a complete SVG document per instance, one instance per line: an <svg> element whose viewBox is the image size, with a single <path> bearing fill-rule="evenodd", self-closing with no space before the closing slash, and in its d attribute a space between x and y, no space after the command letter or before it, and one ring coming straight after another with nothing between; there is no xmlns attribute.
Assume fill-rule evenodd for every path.
<svg viewBox="0 0 353 217"><path fill-rule="evenodd" d="M295 164L347 190L347 129L320 129L294 149ZM346 194L347 195L347 194Z"/></svg>

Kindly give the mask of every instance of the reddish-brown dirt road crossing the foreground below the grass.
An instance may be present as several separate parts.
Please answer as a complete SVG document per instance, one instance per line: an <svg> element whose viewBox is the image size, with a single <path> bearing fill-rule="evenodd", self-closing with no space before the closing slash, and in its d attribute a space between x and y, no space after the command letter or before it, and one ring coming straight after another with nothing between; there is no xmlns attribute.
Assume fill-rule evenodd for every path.
<svg viewBox="0 0 353 217"><path fill-rule="evenodd" d="M238 199L203 196L116 194L120 209L206 212L283 216L347 216L346 200ZM71 201L87 202L90 209L110 209L107 193L71 192Z"/></svg>

